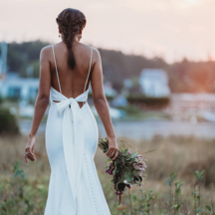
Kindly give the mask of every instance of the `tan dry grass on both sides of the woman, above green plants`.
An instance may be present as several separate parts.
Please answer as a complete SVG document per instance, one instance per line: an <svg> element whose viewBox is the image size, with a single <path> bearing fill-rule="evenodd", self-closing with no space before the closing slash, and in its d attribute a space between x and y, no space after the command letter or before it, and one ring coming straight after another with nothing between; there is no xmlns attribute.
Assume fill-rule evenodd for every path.
<svg viewBox="0 0 215 215"><path fill-rule="evenodd" d="M36 162L25 163L24 149L26 146L26 136L5 136L0 137L0 172L1 180L10 177L12 166L19 160L21 168L26 172L27 177L36 179L41 175L49 178L50 166L46 154L44 136L37 136L35 154ZM118 143L121 145L120 139ZM191 196L195 177L195 170L205 170L202 187L202 201L209 202L212 197L215 199L215 140L195 139L193 137L169 137L167 139L157 137L153 140L130 141L131 151L146 152L157 149L151 153L144 154L147 162L147 177L144 182L144 189L153 188L156 192L161 192L167 198L168 186L166 178L170 173L175 172L177 179L185 182L182 186L181 198ZM112 189L111 176L103 174L105 172L106 156L97 149L95 163L99 172L99 177L104 188L109 205L115 205L115 197ZM132 187L133 193L139 193L139 187ZM125 198L123 198L125 199ZM126 203L126 200L124 200ZM189 202L187 202L189 204ZM115 207L115 206L114 206Z"/></svg>

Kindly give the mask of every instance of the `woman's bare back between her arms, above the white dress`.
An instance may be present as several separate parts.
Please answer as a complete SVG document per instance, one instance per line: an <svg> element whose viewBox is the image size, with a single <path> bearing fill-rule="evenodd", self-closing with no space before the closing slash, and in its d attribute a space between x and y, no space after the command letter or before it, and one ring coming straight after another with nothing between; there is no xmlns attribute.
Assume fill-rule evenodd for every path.
<svg viewBox="0 0 215 215"><path fill-rule="evenodd" d="M53 45L53 49L52 58L50 59L51 86L67 98L75 98L87 90L90 84L93 66L92 63L90 63L90 55L93 55L93 53L91 53L91 47L81 43L73 44L72 49L76 63L73 70L68 65L69 51L66 44L63 42L57 43ZM80 107L82 106L80 105Z"/></svg>

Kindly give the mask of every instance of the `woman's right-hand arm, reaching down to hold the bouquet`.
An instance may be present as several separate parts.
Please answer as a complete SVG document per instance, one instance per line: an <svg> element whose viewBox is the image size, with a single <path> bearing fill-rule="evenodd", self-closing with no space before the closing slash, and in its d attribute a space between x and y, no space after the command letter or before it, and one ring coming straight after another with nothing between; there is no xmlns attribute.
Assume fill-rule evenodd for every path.
<svg viewBox="0 0 215 215"><path fill-rule="evenodd" d="M93 103L102 121L102 124L104 125L108 138L109 149L106 152L106 155L112 160L115 160L118 156L118 145L110 117L109 104L104 94L101 56L99 51L95 48L93 50L93 70L91 74L91 87L93 93Z"/></svg>

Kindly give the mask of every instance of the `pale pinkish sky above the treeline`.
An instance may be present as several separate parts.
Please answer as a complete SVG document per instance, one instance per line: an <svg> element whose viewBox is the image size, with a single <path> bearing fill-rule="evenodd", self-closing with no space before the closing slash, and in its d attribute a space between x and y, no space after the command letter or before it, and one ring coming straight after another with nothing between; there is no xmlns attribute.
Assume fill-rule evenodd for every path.
<svg viewBox="0 0 215 215"><path fill-rule="evenodd" d="M215 0L0 0L0 41L61 41L65 8L87 18L82 43L167 62L215 60Z"/></svg>

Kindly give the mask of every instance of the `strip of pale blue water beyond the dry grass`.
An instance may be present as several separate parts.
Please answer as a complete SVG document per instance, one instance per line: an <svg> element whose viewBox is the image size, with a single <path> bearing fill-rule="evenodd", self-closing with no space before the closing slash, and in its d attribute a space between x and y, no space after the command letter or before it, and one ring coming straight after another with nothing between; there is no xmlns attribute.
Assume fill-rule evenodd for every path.
<svg viewBox="0 0 215 215"><path fill-rule="evenodd" d="M99 134L106 137L102 122L97 120ZM31 127L31 121L19 121L21 133L28 135ZM215 123L200 122L192 124L188 121L167 121L167 120L144 120L144 121L113 121L117 137L126 137L128 139L151 139L154 136L161 135L168 137L170 135L195 136L197 138L215 138ZM38 129L38 134L45 133L46 124L42 123Z"/></svg>

